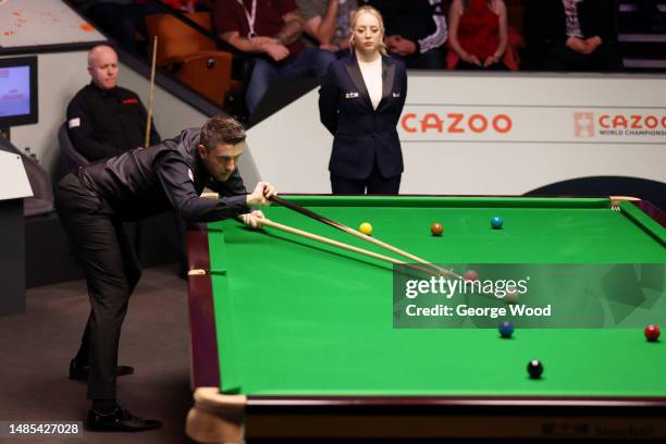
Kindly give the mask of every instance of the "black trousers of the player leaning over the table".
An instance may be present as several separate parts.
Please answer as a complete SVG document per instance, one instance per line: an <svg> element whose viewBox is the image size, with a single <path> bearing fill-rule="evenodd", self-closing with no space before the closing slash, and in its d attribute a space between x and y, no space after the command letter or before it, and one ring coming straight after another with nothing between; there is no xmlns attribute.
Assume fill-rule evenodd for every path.
<svg viewBox="0 0 666 444"><path fill-rule="evenodd" d="M76 175L58 185L55 209L88 285L91 310L76 355L90 366L88 399L114 399L121 326L140 264L123 222Z"/></svg>

